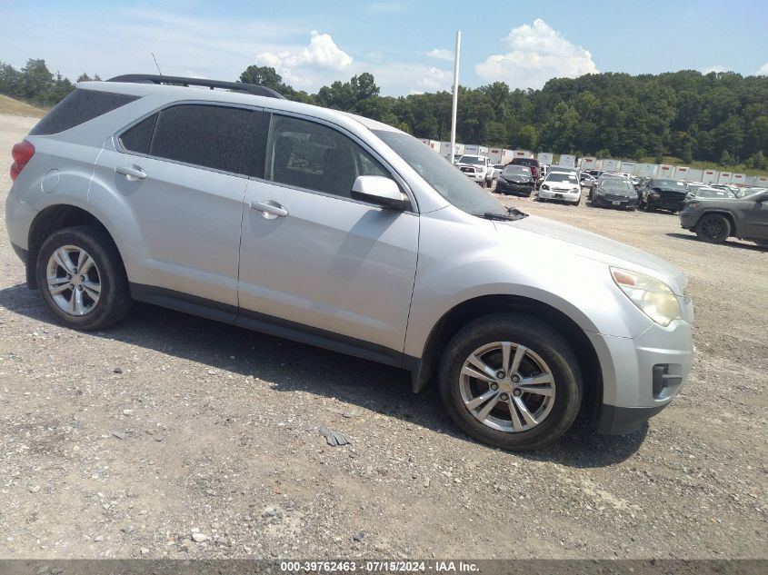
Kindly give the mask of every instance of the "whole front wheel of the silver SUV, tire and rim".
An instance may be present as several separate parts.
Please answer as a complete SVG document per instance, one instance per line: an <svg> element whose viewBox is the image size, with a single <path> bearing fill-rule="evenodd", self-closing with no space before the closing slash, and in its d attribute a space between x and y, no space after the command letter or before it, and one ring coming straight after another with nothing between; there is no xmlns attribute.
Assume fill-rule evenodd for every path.
<svg viewBox="0 0 768 575"><path fill-rule="evenodd" d="M477 441L526 451L557 441L579 411L579 363L549 325L519 313L467 324L448 344L440 394L454 422Z"/></svg>

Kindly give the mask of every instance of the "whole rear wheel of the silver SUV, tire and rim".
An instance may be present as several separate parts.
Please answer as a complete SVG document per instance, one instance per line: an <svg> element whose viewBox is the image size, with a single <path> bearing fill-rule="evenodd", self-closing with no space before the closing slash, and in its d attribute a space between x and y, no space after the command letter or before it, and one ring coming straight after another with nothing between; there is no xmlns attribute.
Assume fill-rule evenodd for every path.
<svg viewBox="0 0 768 575"><path fill-rule="evenodd" d="M49 235L37 255L36 273L45 303L68 327L101 329L131 308L120 254L96 228L69 227Z"/></svg>

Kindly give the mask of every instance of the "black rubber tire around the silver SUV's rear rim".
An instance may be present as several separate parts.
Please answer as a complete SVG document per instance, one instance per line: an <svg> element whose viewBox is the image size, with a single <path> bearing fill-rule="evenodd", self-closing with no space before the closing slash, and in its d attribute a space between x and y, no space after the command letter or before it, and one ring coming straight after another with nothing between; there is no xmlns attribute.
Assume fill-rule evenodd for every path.
<svg viewBox="0 0 768 575"><path fill-rule="evenodd" d="M63 246L75 246L88 253L98 271L101 292L98 302L85 315L72 315L61 309L48 289L47 265L51 255ZM48 309L60 323L75 330L98 330L122 320L130 311L128 278L123 260L109 235L91 226L74 226L49 235L37 254L37 285Z"/></svg>

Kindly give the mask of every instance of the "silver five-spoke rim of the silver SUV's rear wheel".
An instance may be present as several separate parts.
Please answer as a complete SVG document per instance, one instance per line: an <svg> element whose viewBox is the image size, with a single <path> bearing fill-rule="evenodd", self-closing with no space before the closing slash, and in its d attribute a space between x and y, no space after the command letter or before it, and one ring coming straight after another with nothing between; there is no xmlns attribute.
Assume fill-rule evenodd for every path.
<svg viewBox="0 0 768 575"><path fill-rule="evenodd" d="M101 275L94 258L76 245L63 245L48 259L48 292L55 304L70 315L94 311L101 295Z"/></svg>

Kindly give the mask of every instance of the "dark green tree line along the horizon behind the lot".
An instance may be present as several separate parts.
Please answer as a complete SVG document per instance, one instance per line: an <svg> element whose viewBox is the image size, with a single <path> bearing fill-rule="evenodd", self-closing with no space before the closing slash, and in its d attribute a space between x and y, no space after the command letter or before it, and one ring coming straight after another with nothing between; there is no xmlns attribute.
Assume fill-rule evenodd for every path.
<svg viewBox="0 0 768 575"><path fill-rule="evenodd" d="M90 79L82 74L77 81ZM274 68L256 65L239 81L273 88L290 100L361 114L419 138L450 139L449 92L383 96L374 76L364 73L309 94L285 84ZM0 63L0 94L51 106L73 89L45 60L30 59L21 70ZM768 76L682 70L554 78L540 90L511 89L504 82L460 86L456 138L534 152L650 157L658 163L673 156L683 164L768 170Z"/></svg>

